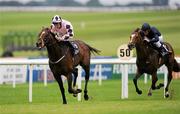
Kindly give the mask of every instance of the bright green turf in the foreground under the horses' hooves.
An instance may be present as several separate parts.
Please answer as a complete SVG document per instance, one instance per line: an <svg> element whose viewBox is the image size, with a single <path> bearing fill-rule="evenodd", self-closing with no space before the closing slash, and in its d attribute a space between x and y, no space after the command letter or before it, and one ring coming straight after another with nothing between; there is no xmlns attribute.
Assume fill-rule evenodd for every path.
<svg viewBox="0 0 180 114"><path fill-rule="evenodd" d="M162 82L159 80L158 82ZM33 102L28 103L28 84L0 85L0 114L178 114L180 112L180 80L173 80L170 86L171 97L163 98L163 89L153 91L147 96L150 86L139 81L143 94L137 95L129 81L129 98L122 100L121 81L89 82L89 101L78 102L71 94L67 96L67 105L62 105L57 83L33 84ZM84 83L82 84L84 86ZM67 90L67 83L65 83Z"/></svg>

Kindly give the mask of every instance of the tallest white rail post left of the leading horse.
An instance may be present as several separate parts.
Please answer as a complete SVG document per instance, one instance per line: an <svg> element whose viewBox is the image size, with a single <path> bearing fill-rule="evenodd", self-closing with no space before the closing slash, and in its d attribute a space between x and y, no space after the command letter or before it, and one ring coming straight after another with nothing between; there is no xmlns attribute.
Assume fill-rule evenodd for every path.
<svg viewBox="0 0 180 114"><path fill-rule="evenodd" d="M29 102L32 102L33 65L29 65Z"/></svg>

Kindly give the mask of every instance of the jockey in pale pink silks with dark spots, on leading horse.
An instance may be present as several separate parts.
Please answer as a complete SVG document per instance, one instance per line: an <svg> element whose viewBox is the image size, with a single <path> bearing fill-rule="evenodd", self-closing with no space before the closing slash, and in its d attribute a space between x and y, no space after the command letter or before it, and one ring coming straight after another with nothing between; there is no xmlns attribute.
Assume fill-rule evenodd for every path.
<svg viewBox="0 0 180 114"><path fill-rule="evenodd" d="M59 15L52 18L51 32L54 33L58 41L70 41L73 38L73 26L71 22L62 19ZM78 47L74 42L71 42L73 48L73 56L78 53Z"/></svg>

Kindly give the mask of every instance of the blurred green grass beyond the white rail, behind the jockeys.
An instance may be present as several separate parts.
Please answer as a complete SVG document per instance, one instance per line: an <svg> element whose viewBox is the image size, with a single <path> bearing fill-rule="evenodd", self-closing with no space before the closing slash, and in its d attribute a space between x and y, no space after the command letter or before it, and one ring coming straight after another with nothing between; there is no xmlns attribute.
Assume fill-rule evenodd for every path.
<svg viewBox="0 0 180 114"><path fill-rule="evenodd" d="M75 39L81 39L102 50L102 56L116 56L118 46L127 43L130 33L143 22L159 28L164 41L172 44L176 55L180 55L180 11L0 12L0 37L9 31L38 33L42 26L50 26L51 17L55 14L71 21Z"/></svg>

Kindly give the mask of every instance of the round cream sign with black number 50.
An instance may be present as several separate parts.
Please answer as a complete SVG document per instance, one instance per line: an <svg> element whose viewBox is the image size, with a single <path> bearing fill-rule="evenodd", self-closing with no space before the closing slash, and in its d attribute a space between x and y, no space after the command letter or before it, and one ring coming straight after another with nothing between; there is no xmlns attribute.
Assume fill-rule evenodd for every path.
<svg viewBox="0 0 180 114"><path fill-rule="evenodd" d="M123 44L118 47L117 56L120 59L124 59L124 60L131 59L133 56L133 51L128 49L127 44Z"/></svg>

